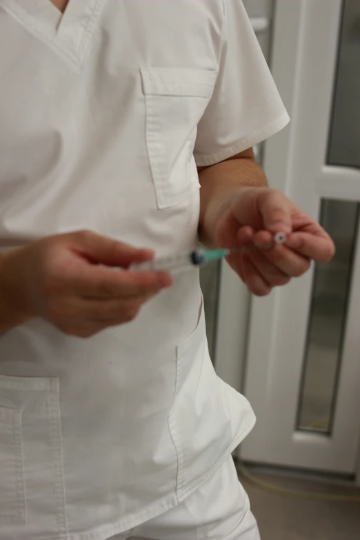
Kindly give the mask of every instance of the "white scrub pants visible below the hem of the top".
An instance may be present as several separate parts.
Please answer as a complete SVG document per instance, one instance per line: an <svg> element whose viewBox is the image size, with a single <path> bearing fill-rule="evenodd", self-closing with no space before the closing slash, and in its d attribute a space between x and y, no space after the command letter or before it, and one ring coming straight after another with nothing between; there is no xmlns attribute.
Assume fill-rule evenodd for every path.
<svg viewBox="0 0 360 540"><path fill-rule="evenodd" d="M111 540L260 540L230 456L179 506Z"/></svg>

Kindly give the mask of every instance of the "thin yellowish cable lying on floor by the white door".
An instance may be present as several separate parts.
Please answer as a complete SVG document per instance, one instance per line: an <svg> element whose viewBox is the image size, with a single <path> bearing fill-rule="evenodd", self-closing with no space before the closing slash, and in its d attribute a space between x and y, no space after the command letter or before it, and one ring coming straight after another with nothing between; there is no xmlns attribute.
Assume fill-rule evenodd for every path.
<svg viewBox="0 0 360 540"><path fill-rule="evenodd" d="M249 483L262 490L271 491L281 495L288 495L290 497L297 497L299 499L316 499L317 501L334 501L339 503L358 503L360 504L360 497L348 497L346 495L330 495L327 493L312 493L306 491L288 490L286 488L280 488L279 486L273 486L270 483L263 482L262 480L254 477L244 466L244 464L237 459L235 462L237 472L245 478Z"/></svg>

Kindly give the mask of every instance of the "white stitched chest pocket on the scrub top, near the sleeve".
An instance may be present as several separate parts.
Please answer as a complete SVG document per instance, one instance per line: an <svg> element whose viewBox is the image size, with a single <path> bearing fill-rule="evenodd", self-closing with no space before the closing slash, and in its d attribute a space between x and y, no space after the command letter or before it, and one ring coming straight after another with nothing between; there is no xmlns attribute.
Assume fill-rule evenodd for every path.
<svg viewBox="0 0 360 540"><path fill-rule="evenodd" d="M199 189L192 152L197 124L217 73L182 68L141 70L146 98L146 142L158 208L186 201Z"/></svg>

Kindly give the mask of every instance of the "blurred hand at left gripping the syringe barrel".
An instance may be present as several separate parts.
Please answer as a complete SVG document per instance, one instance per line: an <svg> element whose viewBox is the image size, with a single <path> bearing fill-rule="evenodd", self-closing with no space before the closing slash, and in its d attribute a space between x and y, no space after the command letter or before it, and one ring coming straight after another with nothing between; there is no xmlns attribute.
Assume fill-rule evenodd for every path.
<svg viewBox="0 0 360 540"><path fill-rule="evenodd" d="M163 272L109 268L153 255L89 231L46 237L5 254L3 296L21 321L42 317L66 334L90 337L132 321L143 303L172 285Z"/></svg>

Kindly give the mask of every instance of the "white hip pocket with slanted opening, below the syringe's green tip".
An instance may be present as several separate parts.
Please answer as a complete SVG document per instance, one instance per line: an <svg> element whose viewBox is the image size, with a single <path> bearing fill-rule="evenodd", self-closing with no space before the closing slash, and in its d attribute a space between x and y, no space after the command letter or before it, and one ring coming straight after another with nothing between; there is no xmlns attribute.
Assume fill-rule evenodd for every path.
<svg viewBox="0 0 360 540"><path fill-rule="evenodd" d="M225 383L208 353L203 303L194 332L177 347L177 382L169 426L179 460L177 494L207 474L232 442Z"/></svg>

